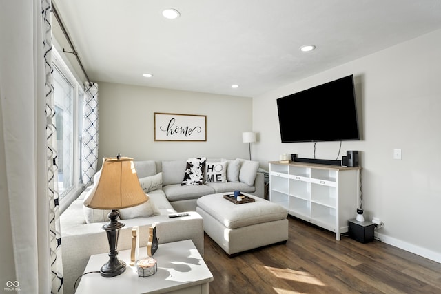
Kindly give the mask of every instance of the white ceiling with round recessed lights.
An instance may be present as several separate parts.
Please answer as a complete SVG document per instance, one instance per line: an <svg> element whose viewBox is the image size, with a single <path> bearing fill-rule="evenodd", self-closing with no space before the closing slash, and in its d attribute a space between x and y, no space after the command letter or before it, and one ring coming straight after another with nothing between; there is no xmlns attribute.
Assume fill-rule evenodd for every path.
<svg viewBox="0 0 441 294"><path fill-rule="evenodd" d="M248 97L441 28L440 0L54 4L91 81ZM181 17L165 19L161 11L169 7ZM72 51L56 23L53 30ZM316 50L300 52L306 44Z"/></svg>

